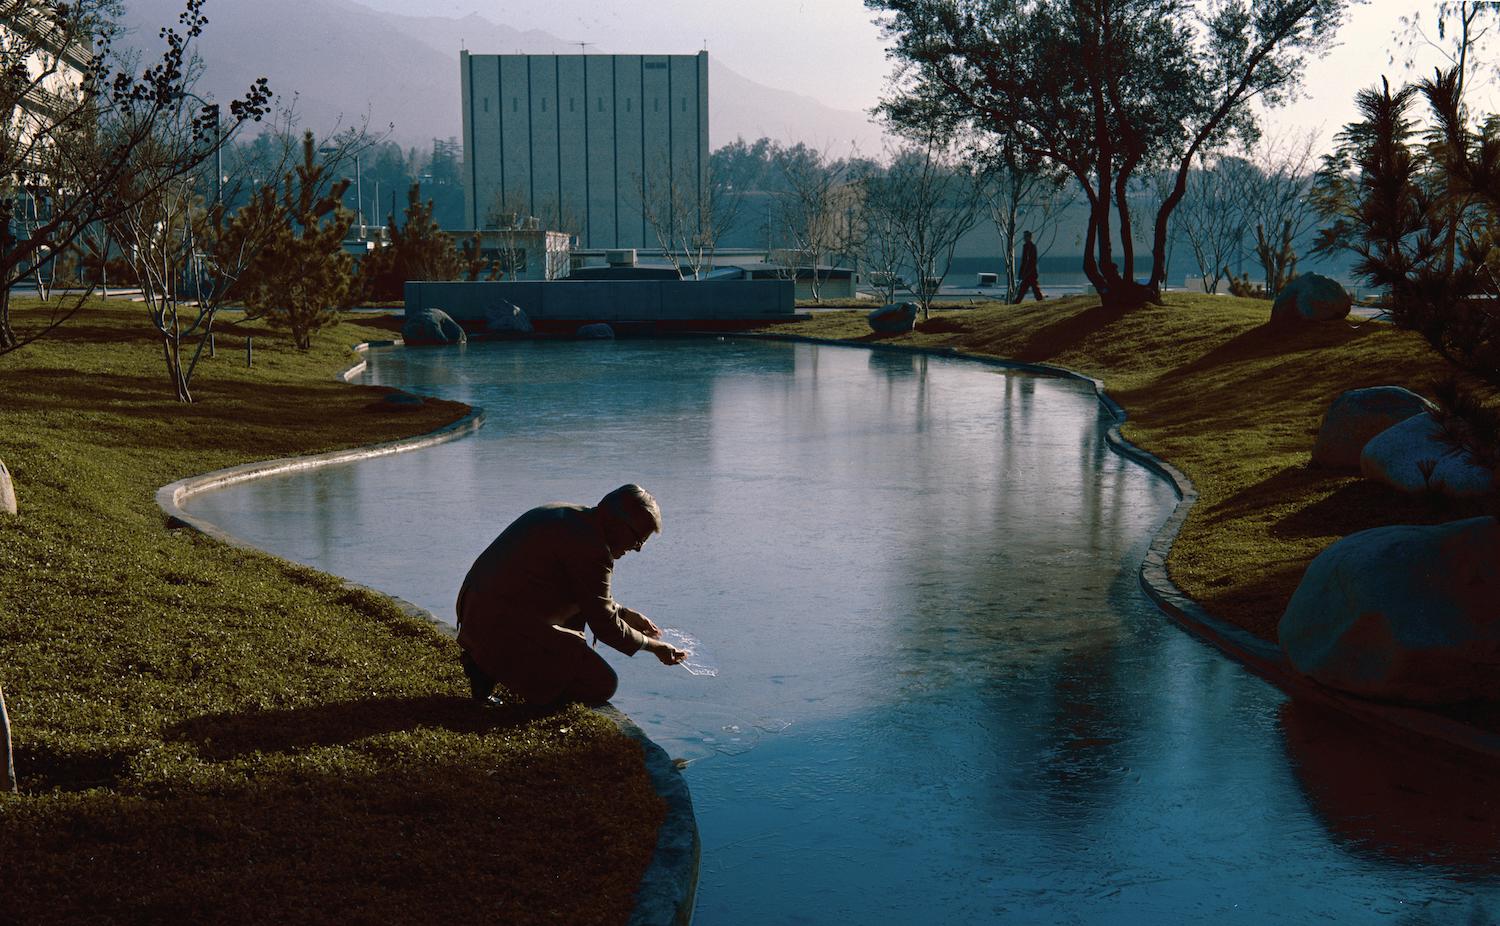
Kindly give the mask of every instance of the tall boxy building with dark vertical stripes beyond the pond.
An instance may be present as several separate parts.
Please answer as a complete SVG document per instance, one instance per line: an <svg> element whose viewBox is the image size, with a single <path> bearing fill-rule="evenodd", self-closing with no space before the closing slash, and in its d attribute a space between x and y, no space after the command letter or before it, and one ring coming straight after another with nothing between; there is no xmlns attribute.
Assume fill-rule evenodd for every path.
<svg viewBox="0 0 1500 926"><path fill-rule="evenodd" d="M470 228L536 215L580 248L654 248L696 222L708 185L708 53L470 54Z"/></svg>

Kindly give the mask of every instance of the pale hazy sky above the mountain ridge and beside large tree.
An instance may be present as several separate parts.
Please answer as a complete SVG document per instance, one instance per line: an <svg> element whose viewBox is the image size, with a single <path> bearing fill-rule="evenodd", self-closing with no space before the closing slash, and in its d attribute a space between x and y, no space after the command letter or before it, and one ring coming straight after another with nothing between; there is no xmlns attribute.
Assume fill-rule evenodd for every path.
<svg viewBox="0 0 1500 926"><path fill-rule="evenodd" d="M410 15L478 14L518 29L537 29L566 41L591 42L590 51L708 53L741 75L806 93L842 110L868 110L891 71L885 44L861 0L356 0ZM1431 21L1432 2L1371 0L1356 6L1340 32L1340 47L1306 74L1308 99L1278 111L1278 126L1317 131L1323 144L1353 119L1353 96L1382 74L1404 77L1390 65L1400 17L1419 12ZM1494 45L1500 48L1500 44ZM504 53L512 50L483 50ZM1442 57L1424 50L1414 72L1431 74ZM1488 93L1492 101L1494 87Z"/></svg>

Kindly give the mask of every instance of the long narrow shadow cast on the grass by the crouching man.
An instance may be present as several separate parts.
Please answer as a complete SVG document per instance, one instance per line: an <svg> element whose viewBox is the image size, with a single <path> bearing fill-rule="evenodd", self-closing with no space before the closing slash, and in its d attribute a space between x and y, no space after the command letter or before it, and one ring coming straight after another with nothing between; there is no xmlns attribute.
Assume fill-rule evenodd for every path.
<svg viewBox="0 0 1500 926"><path fill-rule="evenodd" d="M346 746L369 737L417 728L484 732L519 726L550 708L502 704L488 707L468 698L364 698L290 710L206 714L165 731L166 740L192 743L208 759L232 759L252 752L298 752Z"/></svg>

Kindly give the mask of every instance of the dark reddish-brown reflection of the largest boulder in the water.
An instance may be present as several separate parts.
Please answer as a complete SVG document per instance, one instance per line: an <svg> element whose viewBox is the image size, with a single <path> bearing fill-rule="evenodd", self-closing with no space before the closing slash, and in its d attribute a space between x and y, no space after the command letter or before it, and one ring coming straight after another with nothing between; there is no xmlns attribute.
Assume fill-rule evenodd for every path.
<svg viewBox="0 0 1500 926"><path fill-rule="evenodd" d="M1473 756L1406 743L1300 701L1287 701L1280 722L1311 810L1347 849L1450 869L1461 881L1500 876L1500 776ZM1456 920L1402 920L1428 921Z"/></svg>

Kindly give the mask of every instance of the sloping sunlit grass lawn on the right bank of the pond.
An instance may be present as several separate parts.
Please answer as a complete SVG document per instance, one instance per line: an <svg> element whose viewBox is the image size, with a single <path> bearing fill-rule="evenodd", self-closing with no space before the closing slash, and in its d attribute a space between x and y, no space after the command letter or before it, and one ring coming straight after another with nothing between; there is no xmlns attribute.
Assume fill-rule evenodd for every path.
<svg viewBox="0 0 1500 926"><path fill-rule="evenodd" d="M1198 488L1167 561L1212 614L1275 639L1308 561L1346 534L1431 524L1478 506L1407 498L1358 473L1308 465L1329 402L1346 389L1396 384L1431 396L1452 368L1413 332L1383 323L1274 330L1270 303L1168 294L1166 306L1112 312L1096 297L940 311L900 336L864 312L826 312L777 333L954 347L1054 363L1104 381L1125 407L1125 437Z"/></svg>

